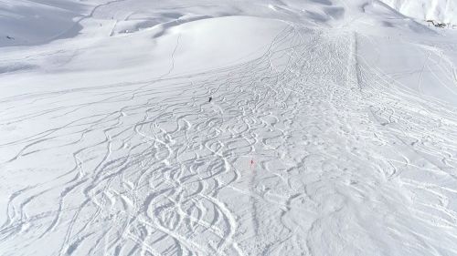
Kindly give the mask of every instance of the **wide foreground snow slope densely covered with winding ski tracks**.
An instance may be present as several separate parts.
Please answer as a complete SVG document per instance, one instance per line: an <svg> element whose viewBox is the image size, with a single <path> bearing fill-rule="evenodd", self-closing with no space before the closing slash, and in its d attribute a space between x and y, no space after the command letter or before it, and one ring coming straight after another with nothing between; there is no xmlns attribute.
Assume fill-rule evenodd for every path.
<svg viewBox="0 0 457 256"><path fill-rule="evenodd" d="M53 126L0 145L3 165L74 163L11 193L4 255L57 233L48 255L457 253L455 109L395 87L357 41L289 26L232 67L1 99L2 125Z"/></svg>

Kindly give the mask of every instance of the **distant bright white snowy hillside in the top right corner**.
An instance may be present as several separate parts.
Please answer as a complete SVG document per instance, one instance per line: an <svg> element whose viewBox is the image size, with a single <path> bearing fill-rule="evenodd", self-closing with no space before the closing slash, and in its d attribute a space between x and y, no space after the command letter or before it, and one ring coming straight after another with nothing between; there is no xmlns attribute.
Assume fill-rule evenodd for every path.
<svg viewBox="0 0 457 256"><path fill-rule="evenodd" d="M454 0L381 0L403 15L419 20L457 24L457 2Z"/></svg>

